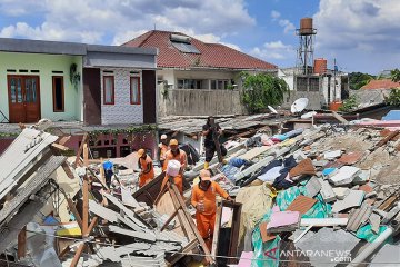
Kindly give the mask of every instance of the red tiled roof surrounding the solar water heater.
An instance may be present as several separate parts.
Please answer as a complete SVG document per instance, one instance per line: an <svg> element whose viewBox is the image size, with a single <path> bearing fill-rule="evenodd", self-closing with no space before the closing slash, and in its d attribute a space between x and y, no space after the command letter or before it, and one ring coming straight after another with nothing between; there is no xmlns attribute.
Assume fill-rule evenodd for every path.
<svg viewBox="0 0 400 267"><path fill-rule="evenodd" d="M222 68L222 69L260 69L274 70L276 65L266 62L247 53L240 52L220 43L206 43L191 38L191 44L200 53L181 52L172 46L171 34L186 36L170 31L148 31L122 46L157 47L159 55L157 66L162 68ZM187 36L186 36L187 37Z"/></svg>

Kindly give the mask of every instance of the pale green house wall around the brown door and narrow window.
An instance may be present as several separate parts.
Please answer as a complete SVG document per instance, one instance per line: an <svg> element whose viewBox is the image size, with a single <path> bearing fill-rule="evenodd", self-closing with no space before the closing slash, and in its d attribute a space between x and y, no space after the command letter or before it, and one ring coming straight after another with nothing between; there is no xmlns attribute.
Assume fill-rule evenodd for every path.
<svg viewBox="0 0 400 267"><path fill-rule="evenodd" d="M81 75L81 82L77 89L70 82L69 73L71 63L76 63L78 66L78 71ZM14 69L17 72L7 72L7 69ZM26 69L28 72L19 72L20 69ZM40 72L32 73L30 72L31 70L39 70ZM63 71L63 73L52 73L52 71ZM0 52L0 110L7 116L7 118L9 117L7 85L8 75L31 75L40 77L41 118L51 119L52 121L82 120L83 93L81 56ZM64 112L53 112L52 76L63 76Z"/></svg>

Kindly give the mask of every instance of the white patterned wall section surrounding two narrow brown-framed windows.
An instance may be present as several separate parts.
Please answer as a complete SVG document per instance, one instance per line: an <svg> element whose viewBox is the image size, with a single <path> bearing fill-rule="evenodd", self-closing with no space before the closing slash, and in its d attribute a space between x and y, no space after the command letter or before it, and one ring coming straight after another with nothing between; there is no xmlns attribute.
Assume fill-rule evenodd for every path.
<svg viewBox="0 0 400 267"><path fill-rule="evenodd" d="M113 71L104 73L103 71ZM143 86L140 77L140 105L130 103L130 71L129 68L102 68L101 70L101 123L102 125L140 125L143 123ZM103 76L114 77L114 103L104 105Z"/></svg>

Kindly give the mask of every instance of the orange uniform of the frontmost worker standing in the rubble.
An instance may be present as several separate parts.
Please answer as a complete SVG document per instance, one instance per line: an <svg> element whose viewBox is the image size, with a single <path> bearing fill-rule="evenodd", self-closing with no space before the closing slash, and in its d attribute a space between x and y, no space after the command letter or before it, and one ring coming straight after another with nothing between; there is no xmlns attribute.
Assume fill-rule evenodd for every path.
<svg viewBox="0 0 400 267"><path fill-rule="evenodd" d="M217 194L226 199L229 195L216 181L211 181L207 191L200 189L199 186L200 185L196 185L193 187L191 204L193 207L197 207L199 202L202 202L204 207L203 211L196 211L196 222L200 235L206 239L209 236L212 236L216 225Z"/></svg>

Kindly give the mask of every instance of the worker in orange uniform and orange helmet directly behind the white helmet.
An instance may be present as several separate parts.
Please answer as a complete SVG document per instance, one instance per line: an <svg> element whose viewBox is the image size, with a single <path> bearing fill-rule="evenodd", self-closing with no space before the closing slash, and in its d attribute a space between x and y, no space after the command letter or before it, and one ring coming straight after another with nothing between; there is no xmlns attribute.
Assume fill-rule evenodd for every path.
<svg viewBox="0 0 400 267"><path fill-rule="evenodd" d="M183 172L184 172L186 167L188 166L188 156L183 150L179 149L179 144L178 144L177 139L171 139L169 142L169 147L170 147L170 150L168 150L166 154L166 161L162 166L162 170L163 171L167 170L169 160L174 159L181 164L179 174L176 177L173 177L173 184L178 187L180 194L183 196ZM168 179L169 179L169 177L166 175L166 178L162 181L161 188L164 187Z"/></svg>

